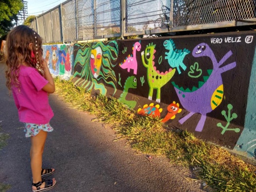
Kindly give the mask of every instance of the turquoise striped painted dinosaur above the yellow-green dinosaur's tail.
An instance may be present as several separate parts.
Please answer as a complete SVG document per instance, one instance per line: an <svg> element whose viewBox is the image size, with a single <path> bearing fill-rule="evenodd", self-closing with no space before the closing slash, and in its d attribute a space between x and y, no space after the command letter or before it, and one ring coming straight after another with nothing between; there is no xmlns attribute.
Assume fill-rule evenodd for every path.
<svg viewBox="0 0 256 192"><path fill-rule="evenodd" d="M187 67L184 65L183 60L190 51L185 48L183 50L175 49L173 39L165 40L163 46L169 50L169 52L165 52L165 59L168 60L170 67L177 68L179 74L181 74L180 67L185 71Z"/></svg>

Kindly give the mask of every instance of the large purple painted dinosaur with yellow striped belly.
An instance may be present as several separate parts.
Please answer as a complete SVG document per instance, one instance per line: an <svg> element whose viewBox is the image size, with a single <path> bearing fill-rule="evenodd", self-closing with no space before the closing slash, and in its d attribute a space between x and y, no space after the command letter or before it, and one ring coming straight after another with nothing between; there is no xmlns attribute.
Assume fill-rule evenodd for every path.
<svg viewBox="0 0 256 192"><path fill-rule="evenodd" d="M175 86L175 91L180 99L180 102L184 109L189 111L185 117L179 120L183 124L189 117L195 113L200 113L201 119L199 120L196 131L201 132L206 120L206 114L213 111L221 103L223 98L223 82L221 74L236 67L236 62L229 63L228 65L220 66L232 55L229 51L218 62L214 55L214 52L210 47L205 44L199 44L193 50L194 57L207 56L211 59L213 64L213 70L207 70L209 77L205 77L205 82L199 81L199 88L184 89L178 87L175 82L172 82Z"/></svg>

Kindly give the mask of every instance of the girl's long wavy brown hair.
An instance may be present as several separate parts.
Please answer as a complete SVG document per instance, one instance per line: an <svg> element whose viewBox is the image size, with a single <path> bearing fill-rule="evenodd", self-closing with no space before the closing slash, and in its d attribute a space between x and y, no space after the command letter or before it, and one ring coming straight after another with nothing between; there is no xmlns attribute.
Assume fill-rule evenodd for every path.
<svg viewBox="0 0 256 192"><path fill-rule="evenodd" d="M33 44L32 50L29 47L30 43ZM44 75L43 61L42 39L38 33L25 25L13 28L8 33L6 40L7 70L5 74L7 78L7 88L9 90L11 90L13 86L19 88L18 76L19 67L21 65L35 68L41 75Z"/></svg>

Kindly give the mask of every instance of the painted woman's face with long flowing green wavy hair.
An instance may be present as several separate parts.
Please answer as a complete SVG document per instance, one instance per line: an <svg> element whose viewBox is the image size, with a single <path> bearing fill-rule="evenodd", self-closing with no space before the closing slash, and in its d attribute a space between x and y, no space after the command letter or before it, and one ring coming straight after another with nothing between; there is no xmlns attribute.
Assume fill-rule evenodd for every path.
<svg viewBox="0 0 256 192"><path fill-rule="evenodd" d="M74 45L75 84L87 90L99 90L106 94L104 84L114 88L116 93L116 75L112 68L117 59L118 45L116 41L87 42Z"/></svg>

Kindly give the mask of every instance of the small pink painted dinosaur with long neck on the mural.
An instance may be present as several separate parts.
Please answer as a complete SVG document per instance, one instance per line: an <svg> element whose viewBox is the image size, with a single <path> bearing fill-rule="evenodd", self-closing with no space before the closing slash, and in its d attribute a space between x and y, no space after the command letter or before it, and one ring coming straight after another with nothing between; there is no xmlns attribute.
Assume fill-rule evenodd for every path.
<svg viewBox="0 0 256 192"><path fill-rule="evenodd" d="M119 66L122 69L127 69L128 72L130 72L130 69L133 69L133 73L137 75L137 59L136 59L136 51L140 51L141 45L140 42L135 42L134 47L133 47L133 54L129 55L123 63L121 62Z"/></svg>

